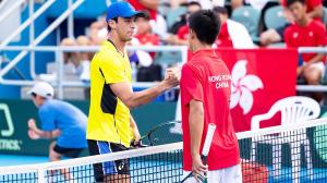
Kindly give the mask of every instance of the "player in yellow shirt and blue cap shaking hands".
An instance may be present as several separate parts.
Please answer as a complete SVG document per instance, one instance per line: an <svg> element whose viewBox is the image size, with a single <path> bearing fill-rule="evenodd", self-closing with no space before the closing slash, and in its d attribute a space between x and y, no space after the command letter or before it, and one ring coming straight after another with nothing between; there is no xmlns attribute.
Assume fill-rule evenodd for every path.
<svg viewBox="0 0 327 183"><path fill-rule="evenodd" d="M111 3L107 10L108 40L90 62L90 107L87 144L90 155L126 150L140 139L140 132L130 109L147 103L179 84L179 69L166 70L158 85L133 93L131 65L125 44L132 40L136 16L141 12L125 2ZM128 160L94 164L97 182L130 182ZM113 181L116 180L116 181Z"/></svg>

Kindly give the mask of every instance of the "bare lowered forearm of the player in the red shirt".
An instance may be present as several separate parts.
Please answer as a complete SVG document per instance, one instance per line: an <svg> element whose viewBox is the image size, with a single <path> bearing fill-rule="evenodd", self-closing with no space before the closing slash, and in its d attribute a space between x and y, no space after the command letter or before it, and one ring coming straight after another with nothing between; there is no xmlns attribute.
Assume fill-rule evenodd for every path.
<svg viewBox="0 0 327 183"><path fill-rule="evenodd" d="M203 108L201 110L198 107L194 106L192 101L190 102L189 125L191 137L191 155L192 157L195 157L199 155L199 146L204 127L204 112Z"/></svg>

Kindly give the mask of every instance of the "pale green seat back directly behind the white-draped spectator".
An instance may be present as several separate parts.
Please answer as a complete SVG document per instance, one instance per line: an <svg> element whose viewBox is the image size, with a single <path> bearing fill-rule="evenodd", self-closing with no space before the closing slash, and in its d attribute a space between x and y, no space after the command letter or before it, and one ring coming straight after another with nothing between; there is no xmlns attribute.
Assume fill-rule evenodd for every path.
<svg viewBox="0 0 327 183"><path fill-rule="evenodd" d="M253 40L257 40L261 12L252 7L241 7L233 10L231 19L243 24Z"/></svg>

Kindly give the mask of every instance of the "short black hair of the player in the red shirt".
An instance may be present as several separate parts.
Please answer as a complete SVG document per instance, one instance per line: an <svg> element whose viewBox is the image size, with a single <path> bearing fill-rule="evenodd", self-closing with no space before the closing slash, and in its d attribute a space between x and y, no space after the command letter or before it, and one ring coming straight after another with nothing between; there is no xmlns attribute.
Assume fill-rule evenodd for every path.
<svg viewBox="0 0 327 183"><path fill-rule="evenodd" d="M213 45L220 30L220 20L211 10L199 10L191 14L189 26L197 39L204 44Z"/></svg>

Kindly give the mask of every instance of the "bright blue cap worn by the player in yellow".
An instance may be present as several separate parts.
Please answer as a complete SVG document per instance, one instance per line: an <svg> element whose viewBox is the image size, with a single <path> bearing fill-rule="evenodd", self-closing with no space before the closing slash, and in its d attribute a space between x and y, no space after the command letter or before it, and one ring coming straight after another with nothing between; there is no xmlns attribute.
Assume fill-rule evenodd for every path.
<svg viewBox="0 0 327 183"><path fill-rule="evenodd" d="M114 17L132 17L137 14L142 14L140 11L135 11L135 9L126 1L118 1L111 3L107 9L107 17L106 21L112 20Z"/></svg>

